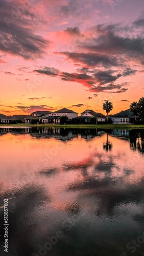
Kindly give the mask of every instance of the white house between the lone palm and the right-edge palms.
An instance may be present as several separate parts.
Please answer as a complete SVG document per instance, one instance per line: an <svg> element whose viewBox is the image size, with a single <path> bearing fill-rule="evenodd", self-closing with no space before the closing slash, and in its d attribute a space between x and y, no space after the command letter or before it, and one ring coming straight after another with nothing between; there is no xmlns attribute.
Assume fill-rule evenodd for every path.
<svg viewBox="0 0 144 256"><path fill-rule="evenodd" d="M130 112L130 110L124 110L121 111L117 114L109 116L109 118L112 119L113 124L129 124L129 123L134 123L134 116Z"/></svg>

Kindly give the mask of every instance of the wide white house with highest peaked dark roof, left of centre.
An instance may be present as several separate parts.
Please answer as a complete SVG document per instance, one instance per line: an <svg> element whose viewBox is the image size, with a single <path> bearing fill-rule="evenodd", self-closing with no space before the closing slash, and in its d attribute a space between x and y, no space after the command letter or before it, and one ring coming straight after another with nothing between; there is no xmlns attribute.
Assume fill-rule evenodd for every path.
<svg viewBox="0 0 144 256"><path fill-rule="evenodd" d="M67 116L69 120L72 120L72 118L78 117L78 113L74 112L73 110L63 108L40 117L39 121L42 123L59 123L59 118L61 116Z"/></svg>

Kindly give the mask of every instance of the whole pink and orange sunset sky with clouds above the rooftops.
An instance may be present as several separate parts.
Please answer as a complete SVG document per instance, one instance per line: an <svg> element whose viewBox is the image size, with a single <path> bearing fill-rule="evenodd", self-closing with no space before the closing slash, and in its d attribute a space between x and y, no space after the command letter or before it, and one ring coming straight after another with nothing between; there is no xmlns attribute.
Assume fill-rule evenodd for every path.
<svg viewBox="0 0 144 256"><path fill-rule="evenodd" d="M0 0L0 113L111 114L143 95L143 0Z"/></svg>

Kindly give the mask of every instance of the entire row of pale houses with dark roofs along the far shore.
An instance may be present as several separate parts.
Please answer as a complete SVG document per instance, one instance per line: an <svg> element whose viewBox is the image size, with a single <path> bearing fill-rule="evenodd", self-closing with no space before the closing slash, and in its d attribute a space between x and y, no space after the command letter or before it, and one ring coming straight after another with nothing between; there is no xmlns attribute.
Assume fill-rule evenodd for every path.
<svg viewBox="0 0 144 256"><path fill-rule="evenodd" d="M37 120L38 122L47 124L47 123L60 123L60 117L67 116L68 120L75 120L76 123L88 123L90 118L95 118L97 122L105 122L106 116L102 113L95 112L93 110L85 110L83 113L77 113L73 110L69 110L66 108L60 109L58 111L35 111L29 116L24 115L15 115L15 116L5 116L0 114L1 122L3 123L11 123L12 120L21 120L25 123L31 123L32 120ZM134 123L134 116L130 113L130 110L121 111L117 114L109 116L112 119L113 124L129 124Z"/></svg>

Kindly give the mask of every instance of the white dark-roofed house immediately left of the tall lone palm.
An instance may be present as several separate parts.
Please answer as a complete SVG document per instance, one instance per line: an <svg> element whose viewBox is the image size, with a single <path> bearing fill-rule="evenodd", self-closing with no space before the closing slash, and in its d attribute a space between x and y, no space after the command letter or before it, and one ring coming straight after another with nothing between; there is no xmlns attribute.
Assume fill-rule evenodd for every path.
<svg viewBox="0 0 144 256"><path fill-rule="evenodd" d="M76 120L79 120L81 122L89 122L90 117L97 118L98 122L105 122L106 116L102 113L97 113L93 110L85 110L83 113L81 113L81 116L77 117Z"/></svg>

